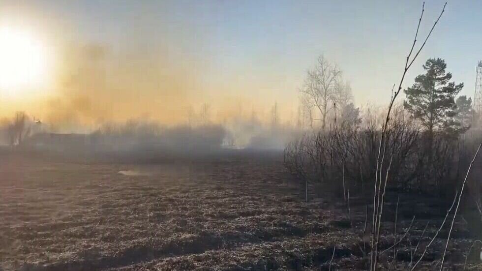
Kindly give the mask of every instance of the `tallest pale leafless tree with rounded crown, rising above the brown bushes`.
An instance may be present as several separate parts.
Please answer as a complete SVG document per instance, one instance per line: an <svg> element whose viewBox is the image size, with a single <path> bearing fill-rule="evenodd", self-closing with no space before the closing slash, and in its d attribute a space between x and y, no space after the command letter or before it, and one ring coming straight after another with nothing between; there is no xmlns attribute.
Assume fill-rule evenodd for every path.
<svg viewBox="0 0 482 271"><path fill-rule="evenodd" d="M328 113L333 107L340 81L341 70L322 55L318 57L316 66L308 71L301 88L301 102L309 112L313 109L317 111L319 119L315 119L313 115L310 118L321 120L323 129L326 128Z"/></svg>

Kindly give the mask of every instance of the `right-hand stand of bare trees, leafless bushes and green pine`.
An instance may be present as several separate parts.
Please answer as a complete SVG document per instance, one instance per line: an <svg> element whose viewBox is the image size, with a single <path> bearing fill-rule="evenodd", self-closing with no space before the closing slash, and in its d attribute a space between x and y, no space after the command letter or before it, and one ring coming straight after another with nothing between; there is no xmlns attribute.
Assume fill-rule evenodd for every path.
<svg viewBox="0 0 482 271"><path fill-rule="evenodd" d="M392 111L383 157L384 167L390 167L387 189L453 196L477 149L481 133L470 128L478 116L470 98L457 96L463 84L451 81L446 66L442 59L427 60L425 73L403 90L405 101ZM323 183L339 195L370 193L386 113L355 108L350 99L341 103L340 96L351 95L340 95L347 88L339 82L341 72L323 57L308 72L301 101L311 128L286 146L285 166L306 189ZM336 105L343 110L336 112Z"/></svg>

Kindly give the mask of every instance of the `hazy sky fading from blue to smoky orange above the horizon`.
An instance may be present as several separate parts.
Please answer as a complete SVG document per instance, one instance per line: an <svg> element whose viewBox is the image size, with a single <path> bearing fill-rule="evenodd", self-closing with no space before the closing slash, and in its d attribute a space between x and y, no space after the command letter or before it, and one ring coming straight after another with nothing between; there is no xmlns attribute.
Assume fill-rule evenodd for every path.
<svg viewBox="0 0 482 271"><path fill-rule="evenodd" d="M427 0L424 37L445 1ZM0 110L58 121L148 116L180 122L209 103L213 118L269 114L288 120L316 58L335 62L357 105L388 103L420 17L419 0L0 0L0 27L47 44L51 84L10 91ZM427 58L446 60L472 96L482 59L482 1L449 1L404 87ZM420 44L420 43L419 43ZM0 94L2 91L0 91Z"/></svg>

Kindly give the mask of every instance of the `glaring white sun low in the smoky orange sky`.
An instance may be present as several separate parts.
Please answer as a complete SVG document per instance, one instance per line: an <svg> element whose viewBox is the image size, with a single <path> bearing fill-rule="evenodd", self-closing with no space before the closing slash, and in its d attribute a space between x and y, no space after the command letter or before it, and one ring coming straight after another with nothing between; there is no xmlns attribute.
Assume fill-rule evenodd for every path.
<svg viewBox="0 0 482 271"><path fill-rule="evenodd" d="M0 26L0 94L39 91L48 78L47 51L32 33Z"/></svg>

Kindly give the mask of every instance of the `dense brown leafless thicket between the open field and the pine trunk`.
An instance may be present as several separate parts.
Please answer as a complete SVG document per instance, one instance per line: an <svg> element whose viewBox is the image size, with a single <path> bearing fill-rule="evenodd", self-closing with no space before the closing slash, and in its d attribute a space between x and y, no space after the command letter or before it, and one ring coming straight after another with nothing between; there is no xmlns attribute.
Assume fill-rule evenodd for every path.
<svg viewBox="0 0 482 271"><path fill-rule="evenodd" d="M380 131L376 129L380 120L371 111L364 116L360 125L346 122L332 130L304 133L286 146L286 167L303 180L334 184L334 188L341 188L344 172L347 186L364 192L365 187L373 185L365 182L375 177L373 169L380 140ZM387 153L392 156L392 172L396 176L393 185L408 189L414 185L413 179L408 177L417 169L417 151L422 135L404 110L397 106L386 137L390 146Z"/></svg>

